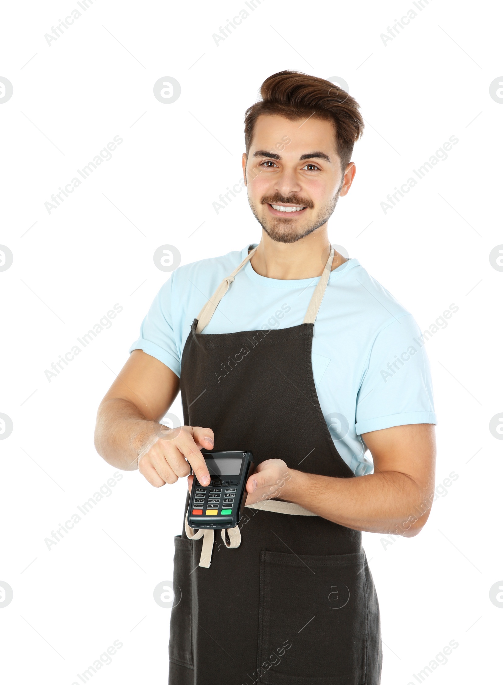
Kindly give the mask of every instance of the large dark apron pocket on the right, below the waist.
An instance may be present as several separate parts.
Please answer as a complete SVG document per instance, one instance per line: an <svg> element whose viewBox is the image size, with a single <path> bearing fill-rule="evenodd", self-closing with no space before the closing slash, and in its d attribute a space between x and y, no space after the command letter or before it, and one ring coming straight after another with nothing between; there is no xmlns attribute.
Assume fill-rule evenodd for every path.
<svg viewBox="0 0 503 685"><path fill-rule="evenodd" d="M257 673L266 685L361 685L365 554L261 551ZM359 573L360 572L360 573Z"/></svg>

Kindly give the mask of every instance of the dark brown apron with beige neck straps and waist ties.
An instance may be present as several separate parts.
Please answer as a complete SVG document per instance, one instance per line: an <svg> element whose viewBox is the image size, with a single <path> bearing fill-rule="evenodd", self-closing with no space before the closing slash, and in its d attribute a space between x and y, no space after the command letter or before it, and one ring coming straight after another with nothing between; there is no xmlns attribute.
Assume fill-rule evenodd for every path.
<svg viewBox="0 0 503 685"><path fill-rule="evenodd" d="M352 478L328 431L311 366L333 251L304 323L201 334L254 252L192 323L181 360L183 421L211 428L216 450L251 451L255 465L279 458L305 473ZM361 532L290 515L309 514L296 507L277 500L246 507L239 531L229 531L234 540L240 534L234 549L213 531L205 540L190 539L188 528L175 537L170 685L381 682L378 600Z"/></svg>

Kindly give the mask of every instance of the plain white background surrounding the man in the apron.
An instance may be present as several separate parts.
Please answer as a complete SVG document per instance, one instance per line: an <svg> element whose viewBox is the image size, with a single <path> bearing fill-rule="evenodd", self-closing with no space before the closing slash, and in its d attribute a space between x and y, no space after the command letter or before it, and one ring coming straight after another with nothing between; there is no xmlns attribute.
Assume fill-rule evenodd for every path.
<svg viewBox="0 0 503 685"><path fill-rule="evenodd" d="M289 3L263 0L235 33L212 34L246 8L226 3L95 0L66 34L44 34L76 0L8 3L1 13L0 610L8 683L71 685L114 640L123 647L93 682L167 682L170 610L153 588L172 578L185 481L152 488L124 473L96 508L51 547L44 538L112 476L94 450L96 408L127 359L157 290L170 277L153 252L175 245L182 264L258 242L244 193L212 203L240 178L244 110L282 69L346 80L365 133L357 176L329 223L422 329L450 303L448 327L427 343L438 415L436 483L459 478L415 538L363 534L381 603L383 684L417 682L450 640L459 647L428 683L497 682L503 610L500 358L503 273L503 73L497 3L430 0ZM394 40L380 34L414 8ZM157 79L181 84L170 104ZM503 77L502 77L503 80ZM49 214L44 203L107 143L123 142ZM448 154L384 214L380 203L450 136ZM123 310L57 377L44 371L107 310ZM181 416L179 399L172 412ZM388 541L389 542L389 541ZM229 551L231 553L231 551ZM502 581L503 585L503 581ZM1 596L0 596L1 599ZM236 684L238 685L238 684Z"/></svg>

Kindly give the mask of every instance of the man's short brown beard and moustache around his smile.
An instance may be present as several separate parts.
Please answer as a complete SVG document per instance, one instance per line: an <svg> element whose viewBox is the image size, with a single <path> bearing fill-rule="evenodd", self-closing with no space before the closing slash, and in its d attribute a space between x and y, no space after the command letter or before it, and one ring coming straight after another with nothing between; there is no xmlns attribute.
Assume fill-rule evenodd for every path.
<svg viewBox="0 0 503 685"><path fill-rule="evenodd" d="M287 243L297 242L297 240L305 238L305 236L309 236L310 233L313 233L316 229L320 228L320 226L324 225L328 219L330 219L335 210L335 206L337 205L341 188L342 183L341 186L339 186L339 190L337 190L335 196L331 197L327 203L320 207L315 216L311 217L307 221L298 221L294 219L294 217L290 218L289 216L285 216L285 219L283 219L282 216L268 216L267 218L265 216L261 217L257 210L257 206L249 195L248 204L253 212L253 216L255 216L255 219L257 219L271 240L274 240L275 242ZM274 193L274 195L263 197L260 201L260 204L266 205L281 202L285 204L307 207L310 209L314 208L314 203L311 199L302 198L299 195L283 197L283 195L281 195L279 192Z"/></svg>

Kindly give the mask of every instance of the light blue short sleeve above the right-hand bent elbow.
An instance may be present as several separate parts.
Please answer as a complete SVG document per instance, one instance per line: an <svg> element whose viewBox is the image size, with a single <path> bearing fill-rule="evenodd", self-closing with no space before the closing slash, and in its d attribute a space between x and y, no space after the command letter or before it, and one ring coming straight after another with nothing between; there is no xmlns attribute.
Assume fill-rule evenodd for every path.
<svg viewBox="0 0 503 685"><path fill-rule="evenodd" d="M411 423L437 423L424 342L411 314L378 332L357 397L358 435Z"/></svg>

